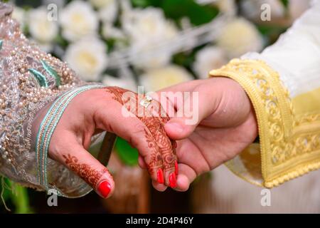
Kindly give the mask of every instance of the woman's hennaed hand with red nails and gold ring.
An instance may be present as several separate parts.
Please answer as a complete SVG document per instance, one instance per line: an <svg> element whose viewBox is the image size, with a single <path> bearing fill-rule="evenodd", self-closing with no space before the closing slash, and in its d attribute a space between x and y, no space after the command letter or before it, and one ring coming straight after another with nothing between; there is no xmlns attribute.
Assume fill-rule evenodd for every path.
<svg viewBox="0 0 320 228"><path fill-rule="evenodd" d="M108 131L139 150L139 155L148 164L152 180L176 187L176 155L166 136L164 122L158 118L140 118L134 112L124 110L123 105L127 102L122 98L124 92L136 96L117 87L92 89L77 95L55 128L50 140L49 157L73 170L100 196L109 197L114 191L112 176L87 151L92 135ZM33 135L36 135L46 111L38 115ZM128 114L131 115L128 117Z"/></svg>

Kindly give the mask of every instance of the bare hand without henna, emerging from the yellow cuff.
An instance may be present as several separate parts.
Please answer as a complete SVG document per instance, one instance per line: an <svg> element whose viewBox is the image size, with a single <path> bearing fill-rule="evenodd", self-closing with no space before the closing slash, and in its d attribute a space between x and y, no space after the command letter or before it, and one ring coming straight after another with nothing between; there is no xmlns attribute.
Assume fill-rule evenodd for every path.
<svg viewBox="0 0 320 228"><path fill-rule="evenodd" d="M167 92L190 92L191 96L198 92L198 100L191 104L188 98L178 103L172 96L167 96L176 113L184 114L184 117L171 118L165 125L169 138L179 140L176 190L188 190L198 175L232 159L257 137L257 121L250 99L241 86L229 78L190 81L158 94L161 92L164 95ZM166 104L162 105L166 107ZM186 110L192 111L186 113ZM186 124L189 119L186 116L190 117L190 114L193 117L198 114L196 123ZM145 167L143 160L140 165ZM160 191L166 189L156 182L153 185Z"/></svg>

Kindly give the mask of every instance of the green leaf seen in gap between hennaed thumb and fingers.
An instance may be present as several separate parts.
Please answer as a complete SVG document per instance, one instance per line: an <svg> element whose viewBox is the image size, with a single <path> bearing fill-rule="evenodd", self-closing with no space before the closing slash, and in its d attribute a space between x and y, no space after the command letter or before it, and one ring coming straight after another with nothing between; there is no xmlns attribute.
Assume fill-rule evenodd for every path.
<svg viewBox="0 0 320 228"><path fill-rule="evenodd" d="M137 165L138 164L138 150L132 148L129 143L123 138L117 138L114 148L119 155L119 158L126 165Z"/></svg>

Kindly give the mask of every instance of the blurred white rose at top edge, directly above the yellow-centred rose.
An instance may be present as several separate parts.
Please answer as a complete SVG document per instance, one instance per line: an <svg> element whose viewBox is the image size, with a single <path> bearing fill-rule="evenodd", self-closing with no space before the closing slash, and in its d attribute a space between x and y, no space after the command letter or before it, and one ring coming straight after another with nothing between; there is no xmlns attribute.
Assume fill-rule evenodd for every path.
<svg viewBox="0 0 320 228"><path fill-rule="evenodd" d="M99 19L89 3L76 0L61 10L60 24L63 36L68 41L77 41L83 36L97 33Z"/></svg>

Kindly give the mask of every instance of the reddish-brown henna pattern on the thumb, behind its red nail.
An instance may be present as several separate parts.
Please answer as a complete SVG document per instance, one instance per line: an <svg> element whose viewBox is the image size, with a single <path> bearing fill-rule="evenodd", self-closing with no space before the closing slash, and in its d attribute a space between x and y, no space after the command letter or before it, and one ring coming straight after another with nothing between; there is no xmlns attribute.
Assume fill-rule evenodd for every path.
<svg viewBox="0 0 320 228"><path fill-rule="evenodd" d="M93 169L90 165L79 163L77 157L73 155L63 155L65 158L65 164L70 167L70 170L79 175L85 182L87 182L91 187L95 188L97 182L100 180L102 175L107 172L107 168L103 168L100 171Z"/></svg>

